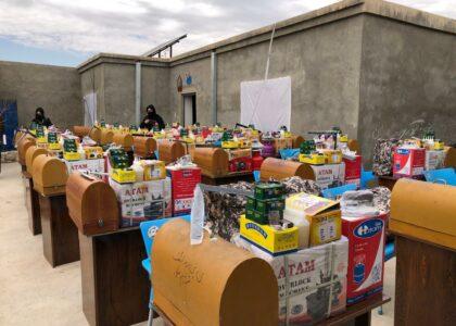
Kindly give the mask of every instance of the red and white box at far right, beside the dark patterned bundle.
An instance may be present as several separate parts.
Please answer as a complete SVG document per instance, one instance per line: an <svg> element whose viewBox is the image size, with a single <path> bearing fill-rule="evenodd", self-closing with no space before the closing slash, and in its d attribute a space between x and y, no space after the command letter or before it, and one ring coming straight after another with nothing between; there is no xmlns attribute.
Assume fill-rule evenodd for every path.
<svg viewBox="0 0 456 326"><path fill-rule="evenodd" d="M398 147L393 154L393 175L395 177L414 177L422 175L425 171L425 160L426 149Z"/></svg>

